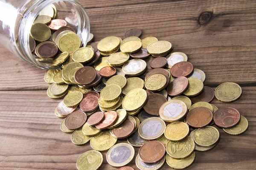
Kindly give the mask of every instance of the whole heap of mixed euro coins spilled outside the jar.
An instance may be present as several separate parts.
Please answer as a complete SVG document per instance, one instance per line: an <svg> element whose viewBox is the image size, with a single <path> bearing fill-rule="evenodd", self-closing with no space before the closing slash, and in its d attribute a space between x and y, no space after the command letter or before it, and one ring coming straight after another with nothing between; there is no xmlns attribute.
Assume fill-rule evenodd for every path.
<svg viewBox="0 0 256 170"><path fill-rule="evenodd" d="M63 36L67 34L73 35ZM140 34L134 28L124 40L105 37L74 49L63 69L45 74L46 82L52 83L48 96L64 97L55 109L56 116L66 118L61 130L72 133L74 144L90 141L93 149L79 157L79 170L99 169L103 159L121 170L133 170L126 165L134 159L140 170L157 170L165 162L184 169L194 162L195 151L209 151L218 144L214 125L230 135L248 127L236 109L210 104L214 97L236 101L239 85L227 82L215 91L204 86L204 72L194 68L186 54L172 53L170 42L155 37L140 40ZM124 138L128 143L116 144ZM134 147L140 147L137 156ZM101 152L106 151L103 158Z"/></svg>

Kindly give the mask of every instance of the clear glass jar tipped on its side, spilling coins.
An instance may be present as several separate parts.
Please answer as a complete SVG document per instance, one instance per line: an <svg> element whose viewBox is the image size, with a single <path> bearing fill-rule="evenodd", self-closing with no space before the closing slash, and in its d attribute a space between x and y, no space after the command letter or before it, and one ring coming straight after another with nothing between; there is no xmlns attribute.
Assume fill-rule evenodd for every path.
<svg viewBox="0 0 256 170"><path fill-rule="evenodd" d="M77 0L0 0L0 43L32 65L56 69L36 61L29 47L32 24L40 11L50 4L56 7L58 19L66 20L85 46L90 33L89 17Z"/></svg>

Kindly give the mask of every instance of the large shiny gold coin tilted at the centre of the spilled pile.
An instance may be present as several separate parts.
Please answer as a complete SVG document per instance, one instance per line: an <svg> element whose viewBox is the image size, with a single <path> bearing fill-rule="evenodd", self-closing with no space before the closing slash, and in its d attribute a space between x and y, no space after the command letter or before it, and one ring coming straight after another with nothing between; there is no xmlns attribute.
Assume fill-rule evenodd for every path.
<svg viewBox="0 0 256 170"><path fill-rule="evenodd" d="M107 86L108 87L108 86ZM125 95L122 101L122 107L126 111L137 111L146 104L148 94L144 89L137 88Z"/></svg>

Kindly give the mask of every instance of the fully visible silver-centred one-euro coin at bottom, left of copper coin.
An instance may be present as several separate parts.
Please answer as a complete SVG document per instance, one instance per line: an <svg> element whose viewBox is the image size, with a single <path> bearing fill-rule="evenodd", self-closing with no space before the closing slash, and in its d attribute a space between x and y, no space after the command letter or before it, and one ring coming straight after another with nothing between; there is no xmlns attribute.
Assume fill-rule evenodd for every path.
<svg viewBox="0 0 256 170"><path fill-rule="evenodd" d="M125 166L133 161L134 147L127 143L118 143L108 150L106 155L108 163L113 167Z"/></svg>

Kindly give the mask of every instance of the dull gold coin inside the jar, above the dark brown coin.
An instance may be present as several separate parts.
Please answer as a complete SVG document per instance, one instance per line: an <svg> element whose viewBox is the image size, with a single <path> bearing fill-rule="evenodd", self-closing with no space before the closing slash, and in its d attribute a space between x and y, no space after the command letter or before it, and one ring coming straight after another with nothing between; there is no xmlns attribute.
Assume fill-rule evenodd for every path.
<svg viewBox="0 0 256 170"><path fill-rule="evenodd" d="M47 25L43 23L35 23L31 27L30 35L35 40L43 42L51 37L51 30Z"/></svg>

